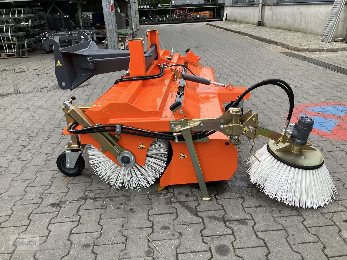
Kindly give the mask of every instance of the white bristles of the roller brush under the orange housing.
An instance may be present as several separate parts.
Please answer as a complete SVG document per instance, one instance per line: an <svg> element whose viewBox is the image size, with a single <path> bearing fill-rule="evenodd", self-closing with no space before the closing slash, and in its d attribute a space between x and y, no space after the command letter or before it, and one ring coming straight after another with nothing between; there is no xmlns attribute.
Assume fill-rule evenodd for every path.
<svg viewBox="0 0 347 260"><path fill-rule="evenodd" d="M137 189L148 188L164 172L168 157L168 143L154 139L147 149L145 164L136 162L130 167L121 167L114 163L101 151L92 147L88 149L89 163L103 181L113 188ZM136 159L135 159L136 160Z"/></svg>

